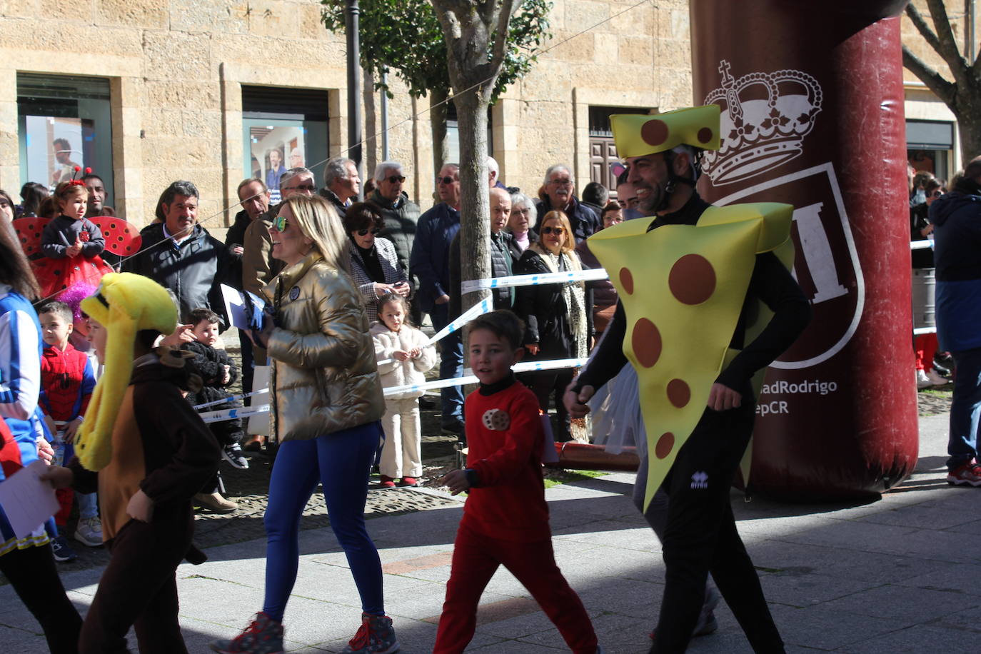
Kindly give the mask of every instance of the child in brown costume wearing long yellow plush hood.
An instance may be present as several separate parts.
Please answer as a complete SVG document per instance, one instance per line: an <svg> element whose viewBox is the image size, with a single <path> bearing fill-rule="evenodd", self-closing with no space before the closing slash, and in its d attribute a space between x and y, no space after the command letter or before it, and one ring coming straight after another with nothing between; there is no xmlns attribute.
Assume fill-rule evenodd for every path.
<svg viewBox="0 0 981 654"><path fill-rule="evenodd" d="M220 450L181 396L194 383L177 350L153 349L177 327L167 291L129 273L102 277L81 302L105 373L77 435L77 458L47 474L55 487L99 491L112 553L85 617L79 653L186 652L175 572L191 548L191 498L214 474Z"/></svg>

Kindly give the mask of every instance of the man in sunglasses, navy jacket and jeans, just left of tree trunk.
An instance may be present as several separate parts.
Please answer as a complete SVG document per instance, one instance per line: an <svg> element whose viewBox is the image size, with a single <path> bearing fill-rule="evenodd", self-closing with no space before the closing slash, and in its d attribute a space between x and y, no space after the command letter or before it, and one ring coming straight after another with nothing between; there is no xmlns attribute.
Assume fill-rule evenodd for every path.
<svg viewBox="0 0 981 654"><path fill-rule="evenodd" d="M439 203L419 219L409 263L413 277L418 277L416 300L430 315L433 328L439 331L455 316L449 315L449 246L460 230L460 167L446 164L436 179ZM463 344L459 332L439 341L439 377L463 375ZM460 435L463 432L463 391L460 386L443 388L442 428Z"/></svg>

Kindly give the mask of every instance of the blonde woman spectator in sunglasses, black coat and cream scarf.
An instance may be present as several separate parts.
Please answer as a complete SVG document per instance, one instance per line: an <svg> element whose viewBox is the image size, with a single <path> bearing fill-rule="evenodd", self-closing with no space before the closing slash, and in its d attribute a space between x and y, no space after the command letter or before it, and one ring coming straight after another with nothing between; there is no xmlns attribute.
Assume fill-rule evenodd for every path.
<svg viewBox="0 0 981 654"><path fill-rule="evenodd" d="M576 240L569 219L560 211L549 211L542 219L539 241L532 243L515 267L516 275L579 272L583 264L575 250ZM585 358L593 336L593 291L582 281L521 286L515 306L525 321L525 350L529 359ZM542 411L555 397L558 415L556 440L569 440L569 415L562 403L572 369L524 373L518 376L539 399Z"/></svg>

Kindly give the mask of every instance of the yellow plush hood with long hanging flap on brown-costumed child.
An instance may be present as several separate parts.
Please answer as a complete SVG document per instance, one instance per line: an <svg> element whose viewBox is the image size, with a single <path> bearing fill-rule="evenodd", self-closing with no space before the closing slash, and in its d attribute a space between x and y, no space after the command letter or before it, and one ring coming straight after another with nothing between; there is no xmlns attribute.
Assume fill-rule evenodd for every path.
<svg viewBox="0 0 981 654"><path fill-rule="evenodd" d="M112 459L113 426L132 374L136 332L172 333L178 325L178 311L167 289L149 277L131 273L102 277L95 293L81 301L81 310L106 329L105 371L76 436L81 465L99 471Z"/></svg>

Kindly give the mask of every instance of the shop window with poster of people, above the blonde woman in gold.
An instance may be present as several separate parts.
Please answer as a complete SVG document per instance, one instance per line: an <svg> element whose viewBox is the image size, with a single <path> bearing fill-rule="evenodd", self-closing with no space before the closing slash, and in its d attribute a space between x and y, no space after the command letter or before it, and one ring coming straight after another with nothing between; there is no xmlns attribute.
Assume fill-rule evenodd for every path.
<svg viewBox="0 0 981 654"><path fill-rule="evenodd" d="M324 89L242 85L243 176L259 177L280 201L280 176L309 168L319 187L328 158Z"/></svg>

